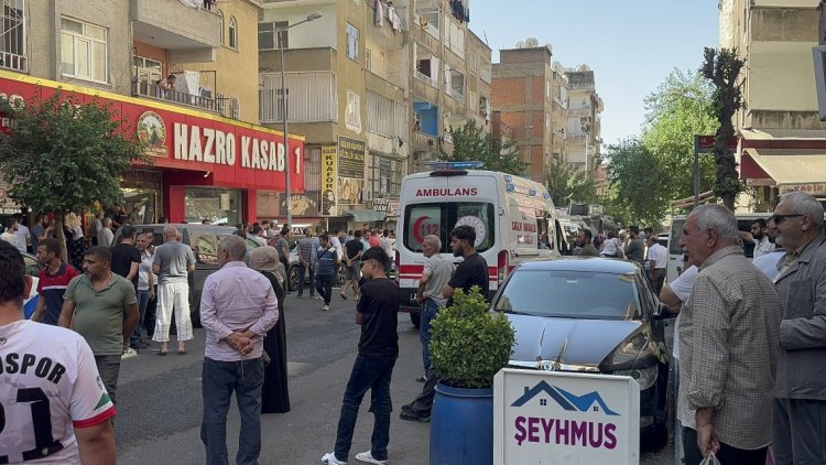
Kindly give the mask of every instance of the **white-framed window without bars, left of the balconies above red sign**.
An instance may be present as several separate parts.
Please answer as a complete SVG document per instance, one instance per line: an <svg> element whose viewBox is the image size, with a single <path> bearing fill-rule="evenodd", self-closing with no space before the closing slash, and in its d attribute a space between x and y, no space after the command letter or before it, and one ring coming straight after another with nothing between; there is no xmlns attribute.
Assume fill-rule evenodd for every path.
<svg viewBox="0 0 826 465"><path fill-rule="evenodd" d="M61 60L64 76L107 83L107 30L94 24L61 19Z"/></svg>

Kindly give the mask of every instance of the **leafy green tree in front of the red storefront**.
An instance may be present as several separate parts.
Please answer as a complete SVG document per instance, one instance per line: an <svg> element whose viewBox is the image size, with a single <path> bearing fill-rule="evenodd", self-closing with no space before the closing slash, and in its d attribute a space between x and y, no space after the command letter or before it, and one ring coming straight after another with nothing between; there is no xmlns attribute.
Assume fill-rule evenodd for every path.
<svg viewBox="0 0 826 465"><path fill-rule="evenodd" d="M15 104L0 100L0 111L12 121L12 129L0 133L0 167L10 197L55 215L65 260L65 215L91 210L96 202L120 205L120 177L149 156L134 128L95 100L58 91Z"/></svg>

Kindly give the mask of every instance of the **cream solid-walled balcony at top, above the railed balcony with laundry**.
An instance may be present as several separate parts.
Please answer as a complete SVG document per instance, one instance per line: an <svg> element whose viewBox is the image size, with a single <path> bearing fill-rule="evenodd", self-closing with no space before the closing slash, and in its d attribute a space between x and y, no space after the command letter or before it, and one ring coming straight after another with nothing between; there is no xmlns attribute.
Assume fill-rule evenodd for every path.
<svg viewBox="0 0 826 465"><path fill-rule="evenodd" d="M133 37L171 52L172 62L211 62L220 46L214 0L133 0Z"/></svg>

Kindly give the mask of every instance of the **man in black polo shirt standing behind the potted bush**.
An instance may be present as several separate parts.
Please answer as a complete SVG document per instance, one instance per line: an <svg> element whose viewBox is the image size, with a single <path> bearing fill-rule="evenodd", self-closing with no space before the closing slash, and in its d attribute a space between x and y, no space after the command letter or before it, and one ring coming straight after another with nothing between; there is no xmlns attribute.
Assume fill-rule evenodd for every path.
<svg viewBox="0 0 826 465"><path fill-rule="evenodd" d="M447 299L447 306L453 305L453 294L457 289L470 292L470 288L478 285L485 299L488 299L490 282L488 278L488 262L482 256L476 252L476 230L470 226L458 226L450 231L450 248L455 257L465 259L456 267L450 281L442 291L442 295ZM402 405L402 420L411 421L431 421L431 408L433 407L433 397L436 393L436 383L438 376L430 377L422 389L422 393L416 399Z"/></svg>

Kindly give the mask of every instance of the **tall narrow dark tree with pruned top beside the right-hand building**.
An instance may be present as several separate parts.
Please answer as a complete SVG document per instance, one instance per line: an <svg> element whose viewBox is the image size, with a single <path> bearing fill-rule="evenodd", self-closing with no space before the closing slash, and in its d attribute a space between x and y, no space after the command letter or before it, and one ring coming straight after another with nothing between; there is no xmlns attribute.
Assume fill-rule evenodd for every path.
<svg viewBox="0 0 826 465"><path fill-rule="evenodd" d="M729 209L735 209L737 194L742 184L737 173L737 160L728 148L728 141L735 137L732 118L742 108L742 89L738 78L743 61L736 50L705 48L705 62L700 68L703 76L714 85L713 108L720 126L715 134L715 162L717 164L717 183L715 193Z"/></svg>

